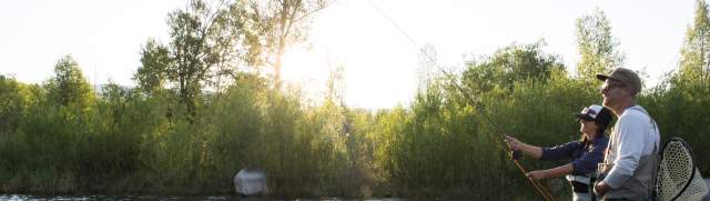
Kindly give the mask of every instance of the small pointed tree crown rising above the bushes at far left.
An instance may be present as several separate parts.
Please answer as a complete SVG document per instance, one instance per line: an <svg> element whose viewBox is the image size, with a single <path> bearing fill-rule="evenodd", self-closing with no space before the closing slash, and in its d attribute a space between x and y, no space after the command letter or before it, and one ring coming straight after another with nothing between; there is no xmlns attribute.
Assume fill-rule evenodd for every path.
<svg viewBox="0 0 710 201"><path fill-rule="evenodd" d="M57 62L54 77L49 80L47 89L50 100L63 107L77 107L85 111L94 101L91 84L71 56Z"/></svg>

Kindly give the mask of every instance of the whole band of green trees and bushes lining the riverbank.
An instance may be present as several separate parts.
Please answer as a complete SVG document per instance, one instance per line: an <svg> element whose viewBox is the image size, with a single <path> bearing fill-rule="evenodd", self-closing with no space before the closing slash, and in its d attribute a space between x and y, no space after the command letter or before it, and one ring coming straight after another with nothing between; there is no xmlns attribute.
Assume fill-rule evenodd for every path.
<svg viewBox="0 0 710 201"><path fill-rule="evenodd" d="M386 110L347 107L341 67L317 103L236 68L278 63L273 53L306 34L298 19L324 3L192 1L170 14L169 43L143 47L135 89L109 83L97 93L71 57L44 84L0 76L0 192L227 194L234 173L248 167L267 173L274 198L539 199L497 139L577 140L571 113L601 101L592 74L623 61L597 11L577 23L576 77L544 42L511 44L465 61L460 74L427 74L409 105ZM679 70L638 100L662 138L690 142L703 174L708 21L698 1ZM532 170L566 161L520 162ZM569 194L564 180L544 183L557 198Z"/></svg>

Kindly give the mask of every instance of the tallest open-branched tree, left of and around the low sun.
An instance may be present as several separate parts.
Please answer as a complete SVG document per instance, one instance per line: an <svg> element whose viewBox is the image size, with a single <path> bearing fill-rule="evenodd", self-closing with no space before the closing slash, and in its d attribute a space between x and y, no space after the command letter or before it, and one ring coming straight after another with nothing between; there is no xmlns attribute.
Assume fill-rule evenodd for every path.
<svg viewBox="0 0 710 201"><path fill-rule="evenodd" d="M246 59L247 46L254 38L244 27L245 4L220 1L207 4L190 1L184 10L169 14L170 44L149 40L141 52L141 67L134 76L144 91L164 86L178 89L180 101L191 118L197 113L197 96L205 87L215 87L234 78L236 64Z"/></svg>

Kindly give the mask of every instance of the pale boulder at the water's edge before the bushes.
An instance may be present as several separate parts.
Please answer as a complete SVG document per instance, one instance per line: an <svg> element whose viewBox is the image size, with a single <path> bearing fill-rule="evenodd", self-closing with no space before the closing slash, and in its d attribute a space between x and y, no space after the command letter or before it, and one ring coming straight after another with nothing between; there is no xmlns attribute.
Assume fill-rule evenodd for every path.
<svg viewBox="0 0 710 201"><path fill-rule="evenodd" d="M242 169L234 175L234 190L239 194L254 195L268 192L264 171Z"/></svg>

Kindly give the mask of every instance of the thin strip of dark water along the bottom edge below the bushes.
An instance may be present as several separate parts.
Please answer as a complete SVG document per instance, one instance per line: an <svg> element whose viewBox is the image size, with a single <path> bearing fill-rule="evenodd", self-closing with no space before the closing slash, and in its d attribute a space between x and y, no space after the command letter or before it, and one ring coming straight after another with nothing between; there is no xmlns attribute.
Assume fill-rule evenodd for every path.
<svg viewBox="0 0 710 201"><path fill-rule="evenodd" d="M242 198L242 197L231 197L231 195L202 195L202 197L192 197L192 195L61 195L61 197L40 197L40 195L28 195L28 194L0 194L0 201L40 201L40 200L55 200L55 201L64 201L64 200L165 200L165 201L187 201L187 200L209 200L209 201L219 201L219 200L234 200L234 201L266 201L270 199L264 198ZM298 199L297 201L351 201L337 198L326 198L326 199ZM363 201L404 201L403 199L366 199Z"/></svg>

